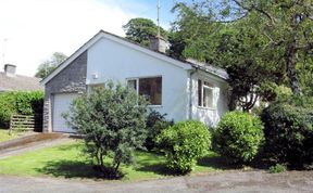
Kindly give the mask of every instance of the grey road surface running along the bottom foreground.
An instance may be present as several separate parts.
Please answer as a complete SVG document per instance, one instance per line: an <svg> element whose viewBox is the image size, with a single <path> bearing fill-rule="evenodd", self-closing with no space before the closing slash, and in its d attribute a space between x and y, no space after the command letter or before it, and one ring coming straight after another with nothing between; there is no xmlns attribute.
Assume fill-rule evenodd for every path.
<svg viewBox="0 0 313 193"><path fill-rule="evenodd" d="M214 192L293 193L313 192L313 171L225 171L193 177L176 177L141 182L108 182L57 178L0 176L0 192Z"/></svg>

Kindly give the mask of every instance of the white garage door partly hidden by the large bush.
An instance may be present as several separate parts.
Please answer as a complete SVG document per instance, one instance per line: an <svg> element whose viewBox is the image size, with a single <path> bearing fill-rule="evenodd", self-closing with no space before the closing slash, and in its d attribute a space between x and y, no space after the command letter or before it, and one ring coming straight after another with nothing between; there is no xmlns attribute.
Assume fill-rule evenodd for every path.
<svg viewBox="0 0 313 193"><path fill-rule="evenodd" d="M77 97L77 93L54 94L52 105L52 130L54 132L75 132L66 125L66 120L62 117L62 114L70 111L72 101Z"/></svg>

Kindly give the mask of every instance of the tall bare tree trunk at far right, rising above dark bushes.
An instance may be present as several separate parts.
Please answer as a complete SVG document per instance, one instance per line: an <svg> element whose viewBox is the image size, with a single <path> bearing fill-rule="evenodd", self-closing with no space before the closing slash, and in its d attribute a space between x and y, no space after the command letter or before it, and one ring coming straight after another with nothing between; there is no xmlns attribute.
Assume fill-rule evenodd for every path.
<svg viewBox="0 0 313 193"><path fill-rule="evenodd" d="M301 87L299 82L299 78L297 76L296 65L297 65L297 40L296 36L293 35L292 41L287 48L287 57L286 57L286 65L287 65L287 75L289 78L289 83L293 94L301 95Z"/></svg>

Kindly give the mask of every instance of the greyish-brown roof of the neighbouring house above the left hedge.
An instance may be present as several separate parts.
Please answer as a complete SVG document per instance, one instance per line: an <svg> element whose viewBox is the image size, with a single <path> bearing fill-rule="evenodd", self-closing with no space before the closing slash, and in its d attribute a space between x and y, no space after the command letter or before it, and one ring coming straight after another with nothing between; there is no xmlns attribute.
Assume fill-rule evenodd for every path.
<svg viewBox="0 0 313 193"><path fill-rule="evenodd" d="M43 90L40 79L35 77L14 75L7 76L0 72L0 92L3 91L35 91Z"/></svg>

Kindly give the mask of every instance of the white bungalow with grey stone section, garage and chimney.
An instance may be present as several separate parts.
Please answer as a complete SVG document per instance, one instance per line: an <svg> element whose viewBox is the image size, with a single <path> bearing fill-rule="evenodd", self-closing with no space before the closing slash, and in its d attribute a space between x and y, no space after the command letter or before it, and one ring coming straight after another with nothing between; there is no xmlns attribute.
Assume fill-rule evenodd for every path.
<svg viewBox="0 0 313 193"><path fill-rule="evenodd" d="M227 111L227 73L197 61L179 61L165 54L162 38L151 48L99 31L47 76L43 131L73 132L62 113L75 98L108 79L134 87L146 94L150 107L168 119L198 119L214 126Z"/></svg>

